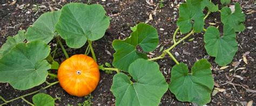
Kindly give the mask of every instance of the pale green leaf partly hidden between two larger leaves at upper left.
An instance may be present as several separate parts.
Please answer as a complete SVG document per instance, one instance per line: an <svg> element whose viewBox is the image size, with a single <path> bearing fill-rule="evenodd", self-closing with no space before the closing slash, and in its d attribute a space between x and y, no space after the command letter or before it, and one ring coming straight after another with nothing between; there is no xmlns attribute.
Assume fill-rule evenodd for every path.
<svg viewBox="0 0 256 106"><path fill-rule="evenodd" d="M42 14L32 26L30 26L25 34L26 40L37 41L42 40L49 43L55 36L54 28L60 16L60 11L46 12Z"/></svg>

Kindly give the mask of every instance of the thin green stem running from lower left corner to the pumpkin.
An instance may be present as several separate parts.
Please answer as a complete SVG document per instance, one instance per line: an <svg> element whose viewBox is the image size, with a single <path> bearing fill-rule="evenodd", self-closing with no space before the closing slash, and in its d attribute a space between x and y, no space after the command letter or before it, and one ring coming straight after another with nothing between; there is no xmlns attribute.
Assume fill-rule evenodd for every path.
<svg viewBox="0 0 256 106"><path fill-rule="evenodd" d="M44 87L44 88L42 88L42 89L49 88L49 87L51 87L51 86L53 86L53 85L55 85L55 84L58 84L58 83L59 83L59 81L52 82L52 83L50 83L48 86L46 86L46 87ZM39 90L40 90L40 89L39 89ZM3 97L2 97L2 96L0 96L0 98L5 102L5 103L0 104L0 105L7 104L7 103L10 103L10 102L15 101L15 100L18 100L18 99L22 99L23 97L26 97L26 96L29 96L29 95L32 95L32 94L36 94L36 93L38 93L38 92L39 92L39 90L36 90L35 92L29 93L29 94L25 94L25 95L22 95L22 96L16 97L15 99L12 99L12 100L9 100L9 101L4 100L4 99L3 99Z"/></svg>

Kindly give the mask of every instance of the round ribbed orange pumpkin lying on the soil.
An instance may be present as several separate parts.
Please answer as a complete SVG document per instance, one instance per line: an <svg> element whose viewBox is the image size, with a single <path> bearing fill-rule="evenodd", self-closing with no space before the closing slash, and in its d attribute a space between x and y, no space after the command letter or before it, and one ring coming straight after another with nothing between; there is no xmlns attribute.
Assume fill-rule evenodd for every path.
<svg viewBox="0 0 256 106"><path fill-rule="evenodd" d="M99 82L98 64L89 56L73 55L60 64L58 80L70 95L89 95Z"/></svg>

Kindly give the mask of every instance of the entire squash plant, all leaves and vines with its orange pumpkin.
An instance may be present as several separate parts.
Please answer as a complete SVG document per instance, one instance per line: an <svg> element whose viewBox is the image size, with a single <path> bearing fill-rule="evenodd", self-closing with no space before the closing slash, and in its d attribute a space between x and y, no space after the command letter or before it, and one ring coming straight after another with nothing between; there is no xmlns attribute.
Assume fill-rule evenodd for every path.
<svg viewBox="0 0 256 106"><path fill-rule="evenodd" d="M131 28L133 32L130 37L125 40L114 40L112 43L116 51L113 56L114 68L103 66L99 66L99 68L103 71L112 70L117 72L113 77L111 86L111 91L116 97L116 105L158 105L161 97L168 89L176 95L179 101L193 102L200 105L209 103L214 85L211 64L206 59L200 59L194 63L191 71L188 71L187 65L179 63L172 55L171 50L187 37L204 31L207 54L215 57L215 62L220 66L230 64L238 50L235 32L245 29L242 24L245 21L245 15L241 13L241 7L238 3L235 3L233 13L228 6L224 6L230 2L225 0L221 3L223 3L221 10L218 9L218 5L209 0L187 0L186 3L181 4L177 21L178 28L173 34L174 44L164 50L158 57L148 58L145 54L156 49L159 43L157 30L150 25L140 23ZM203 13L205 7L208 10L206 15ZM218 27L204 28L204 20L211 12L220 12L221 14L221 22L224 26L223 36L220 36ZM19 90L30 89L45 82L48 86L43 89L46 89L59 82L49 83L46 81L48 75L57 78L57 75L49 73L49 70L59 69L62 74L58 75L58 79L60 81L64 80L64 85L67 85L68 81L65 81L69 78L66 78L67 73L65 71L69 69L65 66L70 65L69 60L72 57L69 58L61 40L64 39L70 48L83 47L87 42L88 46L85 54L91 52L93 59L96 61L92 41L103 37L110 24L110 18L105 16L105 13L104 8L98 4L70 3L63 6L59 11L42 14L26 32L19 31L14 37L8 37L8 40L0 49L0 82L9 82L12 87ZM176 35L178 32L186 35L177 41ZM48 46L52 39L56 39L65 57L69 58L63 63L64 65L60 65L60 68L54 60L56 49L51 52L50 46ZM138 46L142 49L140 51L143 52L137 50ZM158 63L153 62L165 58L166 55L169 55L176 63L171 70L170 84L167 84L160 72ZM83 62L79 64L83 64ZM95 67L96 64L93 64ZM97 68L93 70L97 70ZM98 71L93 72L98 73ZM79 69L74 73L82 74ZM95 81L92 84L93 88L97 86L98 74L95 78L93 79ZM80 89L79 87L75 87L75 90L64 87L68 93L76 96L84 96L93 89L89 88L86 93L80 95L76 88ZM25 96L38 92L39 90L9 101L1 96L0 99L4 101L3 104L23 99L31 105L54 105L54 99L46 94L33 96L33 103L24 99ZM49 104L42 101L49 101L47 102Z"/></svg>

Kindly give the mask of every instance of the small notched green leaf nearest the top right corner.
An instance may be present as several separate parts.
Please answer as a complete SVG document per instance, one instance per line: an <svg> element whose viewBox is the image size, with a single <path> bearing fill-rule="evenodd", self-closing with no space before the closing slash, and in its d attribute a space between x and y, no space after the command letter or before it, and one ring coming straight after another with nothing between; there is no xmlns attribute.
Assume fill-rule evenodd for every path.
<svg viewBox="0 0 256 106"><path fill-rule="evenodd" d="M241 7L238 3L235 3L234 13L231 13L231 9L229 7L223 7L220 13L221 22L223 22L224 25L230 25L230 27L234 28L235 32L244 31L245 26L242 22L245 21L245 14L242 13Z"/></svg>

